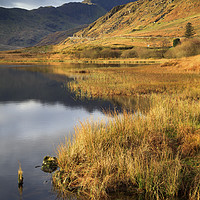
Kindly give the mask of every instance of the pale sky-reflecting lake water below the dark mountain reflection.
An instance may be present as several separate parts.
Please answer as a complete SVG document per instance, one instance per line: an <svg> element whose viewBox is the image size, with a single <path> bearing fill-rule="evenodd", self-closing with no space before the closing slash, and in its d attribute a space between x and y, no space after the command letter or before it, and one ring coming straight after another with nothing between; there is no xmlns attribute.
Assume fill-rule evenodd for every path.
<svg viewBox="0 0 200 200"><path fill-rule="evenodd" d="M55 199L50 177L34 166L45 155L55 155L56 146L78 121L100 119L99 111L42 104L38 101L0 104L0 194L4 200L18 199L18 160L24 171L23 197L27 200ZM47 184L44 184L49 180Z"/></svg>

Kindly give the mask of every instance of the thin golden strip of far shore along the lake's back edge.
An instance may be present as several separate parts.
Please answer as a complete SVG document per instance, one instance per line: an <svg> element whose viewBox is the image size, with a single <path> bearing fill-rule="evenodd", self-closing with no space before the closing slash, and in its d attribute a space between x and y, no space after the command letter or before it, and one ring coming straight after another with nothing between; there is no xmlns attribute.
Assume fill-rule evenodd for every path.
<svg viewBox="0 0 200 200"><path fill-rule="evenodd" d="M63 64L138 64L138 65L160 65L168 67L171 70L174 68L179 71L200 71L200 55L185 57L180 59L2 59L0 65L63 65Z"/></svg>

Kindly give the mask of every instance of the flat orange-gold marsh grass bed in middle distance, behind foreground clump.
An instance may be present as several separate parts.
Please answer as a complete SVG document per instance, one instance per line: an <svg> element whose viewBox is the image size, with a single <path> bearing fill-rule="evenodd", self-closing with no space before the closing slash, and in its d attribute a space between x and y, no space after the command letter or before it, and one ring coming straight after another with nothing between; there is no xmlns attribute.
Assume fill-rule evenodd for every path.
<svg viewBox="0 0 200 200"><path fill-rule="evenodd" d="M168 71L159 66L87 69L68 87L78 96L88 98L176 93L183 98L200 99L199 74Z"/></svg>

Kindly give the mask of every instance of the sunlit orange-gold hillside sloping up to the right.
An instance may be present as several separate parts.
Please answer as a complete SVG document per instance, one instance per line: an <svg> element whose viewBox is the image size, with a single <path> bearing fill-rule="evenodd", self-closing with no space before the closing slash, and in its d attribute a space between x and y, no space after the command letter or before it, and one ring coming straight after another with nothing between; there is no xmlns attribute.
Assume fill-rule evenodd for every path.
<svg viewBox="0 0 200 200"><path fill-rule="evenodd" d="M131 49L135 46L169 48L177 37L184 41L185 27L189 22L194 27L194 37L198 39L198 0L138 0L114 7L55 49L73 52L99 46L112 49Z"/></svg>

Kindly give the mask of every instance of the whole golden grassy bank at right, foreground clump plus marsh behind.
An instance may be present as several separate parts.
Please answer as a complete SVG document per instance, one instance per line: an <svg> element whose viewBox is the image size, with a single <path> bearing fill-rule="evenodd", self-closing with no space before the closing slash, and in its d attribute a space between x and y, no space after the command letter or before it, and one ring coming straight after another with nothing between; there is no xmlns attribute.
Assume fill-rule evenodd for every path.
<svg viewBox="0 0 200 200"><path fill-rule="evenodd" d="M199 200L199 74L160 66L72 72L78 76L69 87L80 96L148 96L150 109L80 123L74 139L58 147L55 188L91 199L122 191L146 199Z"/></svg>

